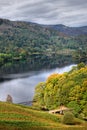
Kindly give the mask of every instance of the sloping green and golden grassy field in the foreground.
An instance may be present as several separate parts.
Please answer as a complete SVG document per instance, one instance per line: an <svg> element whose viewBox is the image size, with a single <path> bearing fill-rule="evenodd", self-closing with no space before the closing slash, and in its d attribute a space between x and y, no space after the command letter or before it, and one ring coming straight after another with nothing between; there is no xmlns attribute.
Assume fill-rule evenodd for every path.
<svg viewBox="0 0 87 130"><path fill-rule="evenodd" d="M0 102L0 130L86 130L87 123L67 126L61 117L30 107Z"/></svg>

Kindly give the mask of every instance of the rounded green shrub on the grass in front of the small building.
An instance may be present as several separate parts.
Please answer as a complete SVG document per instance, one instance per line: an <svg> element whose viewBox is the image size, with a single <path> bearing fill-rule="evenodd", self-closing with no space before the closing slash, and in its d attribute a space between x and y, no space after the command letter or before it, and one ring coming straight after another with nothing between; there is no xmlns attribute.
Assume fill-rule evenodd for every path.
<svg viewBox="0 0 87 130"><path fill-rule="evenodd" d="M74 115L71 112L66 112L62 118L62 123L67 125L74 125Z"/></svg>

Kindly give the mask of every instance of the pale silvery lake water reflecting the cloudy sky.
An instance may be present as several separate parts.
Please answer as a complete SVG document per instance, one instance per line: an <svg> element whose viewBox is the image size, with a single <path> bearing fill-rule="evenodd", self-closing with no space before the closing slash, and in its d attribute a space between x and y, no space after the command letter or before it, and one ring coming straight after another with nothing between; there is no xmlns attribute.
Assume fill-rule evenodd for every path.
<svg viewBox="0 0 87 130"><path fill-rule="evenodd" d="M50 74L63 73L71 70L69 65L62 68L31 71L24 74L6 75L5 78L12 78L0 83L0 101L6 101L7 95L11 95L14 103L31 101L33 99L35 86L44 82Z"/></svg>

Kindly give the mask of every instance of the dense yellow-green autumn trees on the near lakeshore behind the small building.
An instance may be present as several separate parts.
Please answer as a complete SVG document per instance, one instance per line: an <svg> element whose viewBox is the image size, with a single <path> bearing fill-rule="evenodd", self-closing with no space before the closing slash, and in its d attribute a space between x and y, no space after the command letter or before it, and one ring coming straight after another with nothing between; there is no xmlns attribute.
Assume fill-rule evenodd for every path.
<svg viewBox="0 0 87 130"><path fill-rule="evenodd" d="M41 109L65 105L75 116L87 117L87 66L80 63L70 72L50 75L36 86L33 105Z"/></svg>

